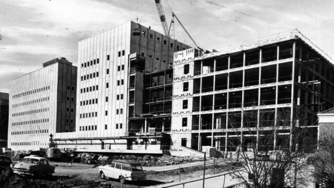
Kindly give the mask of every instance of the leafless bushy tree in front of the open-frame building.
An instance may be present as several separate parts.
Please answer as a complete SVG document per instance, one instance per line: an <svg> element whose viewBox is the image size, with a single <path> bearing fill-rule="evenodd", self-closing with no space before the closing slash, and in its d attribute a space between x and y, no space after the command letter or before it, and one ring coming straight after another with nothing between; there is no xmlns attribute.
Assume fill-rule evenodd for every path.
<svg viewBox="0 0 334 188"><path fill-rule="evenodd" d="M259 113L258 113L259 112ZM244 170L235 172L235 178L243 180L247 187L295 187L304 184L309 177L297 176L306 164L301 140L308 131L304 109L291 120L290 108L243 111L242 123L229 116L229 128L238 136L228 139L236 149ZM276 115L275 115L276 114ZM276 121L275 121L276 117ZM250 180L250 181L249 181Z"/></svg>

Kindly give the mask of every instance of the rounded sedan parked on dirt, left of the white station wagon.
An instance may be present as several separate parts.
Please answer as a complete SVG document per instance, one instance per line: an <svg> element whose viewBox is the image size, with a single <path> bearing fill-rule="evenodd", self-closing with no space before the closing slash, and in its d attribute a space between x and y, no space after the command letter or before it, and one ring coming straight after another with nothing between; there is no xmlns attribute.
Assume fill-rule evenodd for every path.
<svg viewBox="0 0 334 188"><path fill-rule="evenodd" d="M18 175L30 176L51 176L54 173L54 166L43 157L27 156L22 162L11 165L13 172Z"/></svg>

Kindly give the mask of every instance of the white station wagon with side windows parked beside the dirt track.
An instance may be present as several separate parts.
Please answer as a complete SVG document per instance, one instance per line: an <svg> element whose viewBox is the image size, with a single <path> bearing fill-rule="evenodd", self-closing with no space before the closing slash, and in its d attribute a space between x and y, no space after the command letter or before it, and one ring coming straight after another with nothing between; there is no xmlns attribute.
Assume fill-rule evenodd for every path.
<svg viewBox="0 0 334 188"><path fill-rule="evenodd" d="M145 180L146 174L140 163L129 162L126 160L114 160L112 164L99 166L99 174L102 179L119 179L122 183L126 180L136 181Z"/></svg>

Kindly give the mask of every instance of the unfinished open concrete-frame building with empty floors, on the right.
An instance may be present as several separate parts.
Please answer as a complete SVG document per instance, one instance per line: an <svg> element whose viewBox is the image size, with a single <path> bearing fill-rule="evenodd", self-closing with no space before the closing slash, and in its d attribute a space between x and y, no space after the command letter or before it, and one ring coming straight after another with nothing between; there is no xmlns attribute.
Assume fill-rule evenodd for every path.
<svg viewBox="0 0 334 188"><path fill-rule="evenodd" d="M305 137L317 140L317 112L334 104L334 65L300 32L281 33L221 52L196 52L175 53L173 149L213 146L234 151L239 144L236 137L250 149L247 136L256 136L256 145L261 145L265 135L272 134L257 133L259 120L268 127L280 127L282 121L291 125L274 133L272 149L291 139L294 126L310 128ZM306 108L304 117L298 114L301 108ZM290 116L281 120L277 114L282 111ZM293 123L305 117L303 124ZM253 122L254 131L243 127L246 119Z"/></svg>

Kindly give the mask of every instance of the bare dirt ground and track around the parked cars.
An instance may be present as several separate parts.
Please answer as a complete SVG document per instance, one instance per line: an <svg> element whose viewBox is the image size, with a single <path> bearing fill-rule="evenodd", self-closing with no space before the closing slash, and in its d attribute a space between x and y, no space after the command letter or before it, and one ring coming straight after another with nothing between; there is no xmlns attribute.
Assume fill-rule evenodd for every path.
<svg viewBox="0 0 334 188"><path fill-rule="evenodd" d="M69 163L64 162L50 162L50 165L55 166L55 173L50 178L40 177L38 179L30 180L29 177L22 178L16 177L20 179L20 181L27 181L30 183L39 183L45 184L43 186L23 186L22 183L20 186L6 186L8 187L121 187L120 183L116 179L103 180L99 177L98 167L94 167L89 164L82 163L71 163L71 167L69 167ZM224 172L226 165L230 165L230 162L223 161L215 165L215 169L213 170L213 165L208 166L206 170L206 175L217 174ZM235 165L235 164L233 164ZM163 166L161 166L163 168ZM213 172L215 171L215 172ZM190 180L193 178L201 177L203 173L203 167L191 167L191 168L181 168L180 170L181 176L179 175L179 170L173 170L168 172L155 172L148 171L147 172L147 180L145 181L133 181L126 182L123 187L145 187L145 186L154 186L163 183L171 183L178 182L181 178L181 181ZM104 182L102 182L104 181ZM15 182L15 180L14 180ZM99 183L94 183L99 182ZM82 185L85 184L85 185ZM18 185L18 184L16 184ZM80 186L75 186L80 185Z"/></svg>

